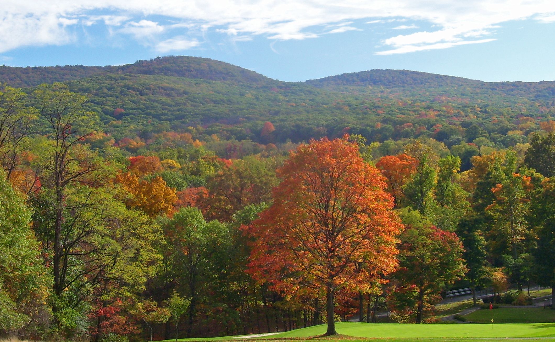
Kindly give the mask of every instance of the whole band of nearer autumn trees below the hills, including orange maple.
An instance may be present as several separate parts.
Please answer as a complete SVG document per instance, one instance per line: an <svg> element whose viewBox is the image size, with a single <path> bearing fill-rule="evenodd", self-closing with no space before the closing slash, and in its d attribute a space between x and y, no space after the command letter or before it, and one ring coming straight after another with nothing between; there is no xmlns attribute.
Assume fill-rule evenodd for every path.
<svg viewBox="0 0 555 342"><path fill-rule="evenodd" d="M455 283L553 287L555 137L542 125L522 146L471 155L350 127L279 144L270 122L259 143L193 126L122 141L63 84L5 86L0 329L123 341L327 323L333 334L335 320L376 321L384 307L433 320Z"/></svg>

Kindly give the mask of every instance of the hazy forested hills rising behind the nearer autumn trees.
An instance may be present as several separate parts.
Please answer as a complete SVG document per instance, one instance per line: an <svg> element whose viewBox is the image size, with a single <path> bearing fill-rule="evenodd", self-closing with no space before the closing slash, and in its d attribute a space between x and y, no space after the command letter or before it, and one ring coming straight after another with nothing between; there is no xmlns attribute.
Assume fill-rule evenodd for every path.
<svg viewBox="0 0 555 342"><path fill-rule="evenodd" d="M555 118L555 81L488 83L375 69L292 83L185 56L107 67L0 67L0 83L28 92L55 81L87 95L115 141L200 127L207 140L265 142L260 132L270 121L275 142L350 132L380 142L433 137L448 147L487 136L487 144L508 147Z"/></svg>

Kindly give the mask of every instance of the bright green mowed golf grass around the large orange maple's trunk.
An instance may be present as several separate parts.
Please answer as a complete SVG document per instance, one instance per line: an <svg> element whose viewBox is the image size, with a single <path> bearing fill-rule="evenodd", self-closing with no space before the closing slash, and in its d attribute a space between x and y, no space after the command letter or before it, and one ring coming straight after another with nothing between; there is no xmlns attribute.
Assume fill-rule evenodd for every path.
<svg viewBox="0 0 555 342"><path fill-rule="evenodd" d="M484 310L485 311L485 310ZM490 318L491 319L491 318ZM398 324L398 323L336 323L336 330L341 340L359 340L357 338L379 338L383 341L443 341L455 339L461 341L473 338L555 338L555 323L538 324ZM326 325L311 326L275 335L252 339L305 339L322 335L326 332ZM248 336L248 335L247 335ZM246 336L245 336L246 337ZM226 336L224 338L203 338L190 340L218 341L240 340L241 336ZM360 340L362 340L360 339ZM249 339L250 340L250 339ZM183 340L185 341L185 340Z"/></svg>

